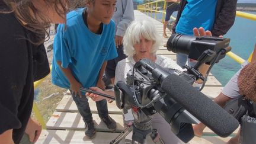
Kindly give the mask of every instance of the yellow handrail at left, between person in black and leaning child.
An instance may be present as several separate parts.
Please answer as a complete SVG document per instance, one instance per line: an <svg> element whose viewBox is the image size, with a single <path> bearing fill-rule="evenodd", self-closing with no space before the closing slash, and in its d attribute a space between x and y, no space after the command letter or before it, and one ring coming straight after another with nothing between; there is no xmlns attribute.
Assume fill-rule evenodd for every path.
<svg viewBox="0 0 256 144"><path fill-rule="evenodd" d="M50 66L50 71L52 71L52 66ZM44 78L40 79L39 81L34 82L34 89L36 89L41 84L41 82L44 81L45 78L46 78L46 76ZM39 108L37 107L37 104L34 101L33 101L33 108L32 108L32 110L33 110L33 112L34 112L34 114L36 116L36 119L41 124L42 129L46 129L46 123L44 122L43 116L41 116Z"/></svg>

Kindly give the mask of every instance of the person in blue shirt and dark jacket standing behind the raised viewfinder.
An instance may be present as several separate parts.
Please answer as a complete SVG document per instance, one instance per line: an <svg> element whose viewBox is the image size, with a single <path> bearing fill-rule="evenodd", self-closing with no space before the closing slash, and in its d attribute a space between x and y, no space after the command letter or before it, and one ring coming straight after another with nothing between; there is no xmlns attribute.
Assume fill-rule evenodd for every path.
<svg viewBox="0 0 256 144"><path fill-rule="evenodd" d="M172 33L193 35L193 28L202 27L212 31L213 36L219 37L227 33L235 21L237 0L181 0L177 20ZM196 60L188 59L187 55L177 53L177 64L194 65ZM209 65L201 65L199 71L206 75ZM197 81L200 87L202 81Z"/></svg>

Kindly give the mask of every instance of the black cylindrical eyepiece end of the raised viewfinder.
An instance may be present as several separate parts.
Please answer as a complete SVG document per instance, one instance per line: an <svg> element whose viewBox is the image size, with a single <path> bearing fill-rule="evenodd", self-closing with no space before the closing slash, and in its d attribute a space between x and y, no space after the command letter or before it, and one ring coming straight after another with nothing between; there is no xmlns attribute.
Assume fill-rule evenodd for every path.
<svg viewBox="0 0 256 144"><path fill-rule="evenodd" d="M191 41L193 40L196 40L196 37L183 34L172 34L167 41L167 49L174 53L184 53L188 55L190 52Z"/></svg>

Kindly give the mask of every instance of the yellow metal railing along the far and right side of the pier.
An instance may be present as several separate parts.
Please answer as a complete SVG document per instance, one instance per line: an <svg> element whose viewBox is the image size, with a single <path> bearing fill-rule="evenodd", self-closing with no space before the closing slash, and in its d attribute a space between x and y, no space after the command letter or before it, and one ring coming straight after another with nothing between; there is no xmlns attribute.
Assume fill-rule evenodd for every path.
<svg viewBox="0 0 256 144"><path fill-rule="evenodd" d="M163 11L158 10L158 6L160 6L160 5L161 6L163 5L163 7L162 7ZM166 14L166 12L165 12L166 2L164 0L158 0L158 1L154 1L154 2L148 2L148 3L142 4L142 5L138 5L137 9L139 11L143 12L143 13L144 12L147 12L147 13L150 12L151 17L152 17L152 12L155 12L155 17L154 17L155 19L156 19L156 14L162 13L162 23L164 23L164 18L165 18L165 14ZM255 14L249 14L247 12L236 11L236 16L256 21L256 15ZM174 18L172 16L171 16L171 18L172 18L172 20L176 20L176 18ZM245 61L244 59L242 59L242 57L236 55L233 52L228 52L227 55L229 57L231 57L233 60L235 60L236 62L240 63L240 64Z"/></svg>

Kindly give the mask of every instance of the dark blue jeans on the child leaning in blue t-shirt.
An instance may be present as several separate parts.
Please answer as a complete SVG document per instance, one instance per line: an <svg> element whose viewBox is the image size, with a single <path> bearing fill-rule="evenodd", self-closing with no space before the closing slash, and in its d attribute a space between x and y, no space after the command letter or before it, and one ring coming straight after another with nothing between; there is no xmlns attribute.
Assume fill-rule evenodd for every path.
<svg viewBox="0 0 256 144"><path fill-rule="evenodd" d="M69 90L71 91L71 90ZM85 95L79 97L79 95L75 96L75 94L71 91L71 95L73 97L73 101L75 101L76 106L78 107L78 111L81 114L85 123L89 123L92 121L92 114L91 109L89 108L88 98ZM107 109L107 101L101 100L96 102L98 115L101 119L108 116L108 109Z"/></svg>

